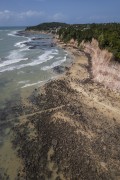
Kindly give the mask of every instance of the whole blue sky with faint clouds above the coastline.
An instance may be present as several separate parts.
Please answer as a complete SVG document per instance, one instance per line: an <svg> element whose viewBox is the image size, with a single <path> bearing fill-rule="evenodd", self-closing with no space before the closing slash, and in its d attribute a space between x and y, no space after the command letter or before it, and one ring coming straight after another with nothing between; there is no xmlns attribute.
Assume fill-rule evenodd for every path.
<svg viewBox="0 0 120 180"><path fill-rule="evenodd" d="M0 26L120 22L120 0L0 0Z"/></svg>

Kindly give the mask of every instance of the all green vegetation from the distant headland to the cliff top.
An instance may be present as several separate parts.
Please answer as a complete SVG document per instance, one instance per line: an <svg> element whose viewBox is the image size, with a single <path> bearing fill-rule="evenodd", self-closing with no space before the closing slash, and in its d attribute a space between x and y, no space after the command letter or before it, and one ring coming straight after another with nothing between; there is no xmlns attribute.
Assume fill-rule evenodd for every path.
<svg viewBox="0 0 120 180"><path fill-rule="evenodd" d="M27 27L26 30L46 31L47 33L57 33L65 43L74 39L80 44L91 41L95 38L99 42L101 49L112 52L115 60L120 62L120 24L66 24L59 22L42 23L37 26Z"/></svg>

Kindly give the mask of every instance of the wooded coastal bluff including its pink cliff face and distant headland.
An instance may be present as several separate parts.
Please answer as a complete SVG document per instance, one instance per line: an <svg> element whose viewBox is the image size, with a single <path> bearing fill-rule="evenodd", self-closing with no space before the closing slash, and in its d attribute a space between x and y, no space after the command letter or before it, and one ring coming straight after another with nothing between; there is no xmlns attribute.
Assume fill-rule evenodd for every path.
<svg viewBox="0 0 120 180"><path fill-rule="evenodd" d="M120 89L120 24L43 23L28 27L56 35L59 43L84 51L91 57L92 79L110 89Z"/></svg>

